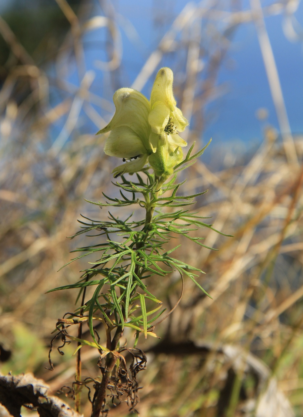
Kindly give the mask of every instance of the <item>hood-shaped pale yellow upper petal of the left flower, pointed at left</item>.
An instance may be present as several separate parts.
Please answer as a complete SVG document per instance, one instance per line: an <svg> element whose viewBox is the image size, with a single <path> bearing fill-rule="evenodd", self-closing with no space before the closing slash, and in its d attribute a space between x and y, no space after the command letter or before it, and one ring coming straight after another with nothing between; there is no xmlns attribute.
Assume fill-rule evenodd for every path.
<svg viewBox="0 0 303 417"><path fill-rule="evenodd" d="M128 126L137 133L145 148L148 149L148 138L151 131L148 115L151 106L147 98L132 88L120 88L114 93L113 100L116 107L114 117L98 133L106 133L120 126Z"/></svg>

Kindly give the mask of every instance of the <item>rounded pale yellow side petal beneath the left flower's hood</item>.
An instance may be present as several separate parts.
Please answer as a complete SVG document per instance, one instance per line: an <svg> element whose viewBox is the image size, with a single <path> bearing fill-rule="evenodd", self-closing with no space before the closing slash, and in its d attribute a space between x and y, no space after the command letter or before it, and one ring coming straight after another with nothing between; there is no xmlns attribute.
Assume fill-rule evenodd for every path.
<svg viewBox="0 0 303 417"><path fill-rule="evenodd" d="M147 153L142 140L128 126L114 128L107 138L104 152L109 156L118 158L132 158Z"/></svg>

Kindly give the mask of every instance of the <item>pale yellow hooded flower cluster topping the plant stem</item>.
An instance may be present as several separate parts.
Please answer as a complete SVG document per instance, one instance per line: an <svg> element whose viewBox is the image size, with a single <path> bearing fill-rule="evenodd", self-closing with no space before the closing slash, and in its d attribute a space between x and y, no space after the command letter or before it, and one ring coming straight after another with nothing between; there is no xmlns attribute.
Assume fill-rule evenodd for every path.
<svg viewBox="0 0 303 417"><path fill-rule="evenodd" d="M120 88L114 93L116 112L98 133L110 131L104 146L107 155L129 160L114 168L115 177L141 171L147 162L157 176L168 177L182 160L180 147L187 143L177 132L184 131L188 121L176 107L172 84L171 69L161 68L150 102L132 88Z"/></svg>

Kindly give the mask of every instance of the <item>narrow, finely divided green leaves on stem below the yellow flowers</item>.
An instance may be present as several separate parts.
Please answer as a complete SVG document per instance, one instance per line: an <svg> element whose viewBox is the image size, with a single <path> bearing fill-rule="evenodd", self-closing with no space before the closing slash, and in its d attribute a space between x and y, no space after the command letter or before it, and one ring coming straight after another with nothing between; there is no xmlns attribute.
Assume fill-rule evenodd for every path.
<svg viewBox="0 0 303 417"><path fill-rule="evenodd" d="M193 163L205 149L191 156L193 146L184 161L176 167L176 171ZM82 216L79 221L81 230L71 238L86 233L87 236L100 236L102 242L75 250L74 252L81 254L70 262L92 254L96 259L89 262L92 266L82 271L83 274L76 284L51 290L79 288L80 296L86 286L96 286L92 298L81 309L83 314L87 314L90 334L99 349L102 348L96 340L93 322L100 313L109 331L117 330L118 327L123 330L127 326L136 330L137 336L143 333L145 339L147 335L155 336L152 332L154 322L164 309L161 309L161 301L156 295L147 289L147 279L152 279L152 276L168 277L172 271L178 271L182 280L184 276L188 276L204 291L197 281L203 271L171 256L180 245L165 251L164 244L174 237L184 236L200 246L212 249L202 243L203 237L192 237L190 232L201 227L215 229L201 221L204 218L186 208L195 203L195 197L206 191L183 196L177 192L185 181L176 184L176 174L164 184L161 183L161 178L148 171L144 171L143 175L137 173L135 181L129 181L122 175L121 181L114 183L119 188L121 198L111 198L103 194L105 202L90 203L97 204L100 208L139 204L145 208L146 218L138 220L132 214L122 220L111 212L106 221ZM163 212L162 208L166 207L172 210ZM178 209L173 211L176 207ZM98 233L91 234L93 231ZM208 295L206 291L204 293ZM160 306L155 308L155 304Z"/></svg>

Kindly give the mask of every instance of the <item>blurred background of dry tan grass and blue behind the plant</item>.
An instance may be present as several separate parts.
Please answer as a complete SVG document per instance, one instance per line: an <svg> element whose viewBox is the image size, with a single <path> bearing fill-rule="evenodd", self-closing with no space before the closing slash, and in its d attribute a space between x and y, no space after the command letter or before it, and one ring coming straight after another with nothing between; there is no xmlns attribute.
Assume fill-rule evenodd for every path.
<svg viewBox="0 0 303 417"><path fill-rule="evenodd" d="M302 41L296 0L1 1L3 374L33 372L54 393L71 385L75 346L53 352L53 372L45 367L56 321L75 309L77 293L45 291L75 283L86 265L57 272L89 239L67 239L80 213L107 215L84 198L116 192L117 160L104 155L106 135L95 136L114 113L114 91L149 97L169 66L190 121L183 138L196 150L213 139L186 171L184 193L208 189L194 210L234 237L205 229L204 243L219 251L188 241L179 250L206 272L199 283L213 299L186 280L180 305L156 329L161 341L141 341L148 362L137 409L144 417L303 415ZM168 308L181 293L176 278L150 282ZM83 348L83 377L100 375L97 358ZM87 392L82 401L89 415ZM109 415L127 410L122 403Z"/></svg>

